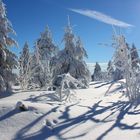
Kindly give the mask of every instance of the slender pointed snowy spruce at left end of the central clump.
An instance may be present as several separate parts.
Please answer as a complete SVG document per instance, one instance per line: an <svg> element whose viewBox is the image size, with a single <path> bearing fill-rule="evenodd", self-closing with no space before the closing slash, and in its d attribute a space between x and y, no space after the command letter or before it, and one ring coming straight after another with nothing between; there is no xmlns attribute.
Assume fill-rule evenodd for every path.
<svg viewBox="0 0 140 140"><path fill-rule="evenodd" d="M21 56L19 58L19 81L23 90L28 88L30 71L30 52L29 45L25 42Z"/></svg>

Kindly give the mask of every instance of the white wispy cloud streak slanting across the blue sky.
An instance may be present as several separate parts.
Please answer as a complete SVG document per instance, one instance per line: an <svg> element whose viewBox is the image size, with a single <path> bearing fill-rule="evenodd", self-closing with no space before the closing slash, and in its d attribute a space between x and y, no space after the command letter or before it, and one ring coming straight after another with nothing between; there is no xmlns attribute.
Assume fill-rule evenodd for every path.
<svg viewBox="0 0 140 140"><path fill-rule="evenodd" d="M79 14L84 15L84 16L90 17L92 19L102 21L106 24L110 24L110 25L114 25L114 26L118 26L118 27L123 27L123 28L134 27L131 24L114 19L111 16L105 15L101 12L97 12L97 11L93 11L93 10L83 10L83 9L69 9L69 10L76 12L76 13L79 13Z"/></svg>

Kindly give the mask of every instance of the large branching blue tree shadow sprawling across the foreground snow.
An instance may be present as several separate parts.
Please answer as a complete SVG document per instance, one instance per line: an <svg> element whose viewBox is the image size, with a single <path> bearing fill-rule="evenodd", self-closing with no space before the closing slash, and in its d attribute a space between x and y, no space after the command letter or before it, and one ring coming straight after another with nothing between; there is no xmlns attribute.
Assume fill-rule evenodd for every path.
<svg viewBox="0 0 140 140"><path fill-rule="evenodd" d="M53 129L50 129L47 126L44 126L41 128L39 132L26 135L25 133L28 132L34 125L38 123L39 120L41 120L44 117L47 117L49 113L52 111L49 111L47 114L41 116L37 120L33 121L31 124L27 125L26 127L22 128L16 135L16 138L14 140L45 140L48 139L51 136L55 136L59 140L68 140L72 138L81 138L85 136L87 133L89 133L91 130L96 129L95 123L98 125L103 125L105 123L111 122L112 125L108 127L107 130L102 131L100 136L97 138L97 140L102 140L106 135L112 132L115 128L119 128L120 130L136 130L140 129L140 126L138 126L138 122L129 125L127 123L122 122L124 117L126 115L140 115L140 110L134 110L132 109L132 104L130 102L126 101L117 101L117 102L110 102L108 106L102 106L100 105L102 103L102 100L95 103L92 107L90 106L82 106L79 104L70 105L67 106L62 113L62 115L59 117L61 123L54 126ZM77 117L70 118L69 112L71 110L71 107L73 106L79 106L82 108L87 108L88 110ZM110 114L104 114L106 112L109 112ZM100 115L104 114L104 118L100 118ZM114 115L116 117L114 117ZM113 119L112 119L113 118ZM114 120L115 119L115 120ZM84 125L87 121L93 122L93 126L90 129L87 129L85 132L82 132L77 135L71 135L70 137L65 137L65 134L71 132L78 126ZM83 126L82 126L83 127ZM93 136L94 137L94 136Z"/></svg>

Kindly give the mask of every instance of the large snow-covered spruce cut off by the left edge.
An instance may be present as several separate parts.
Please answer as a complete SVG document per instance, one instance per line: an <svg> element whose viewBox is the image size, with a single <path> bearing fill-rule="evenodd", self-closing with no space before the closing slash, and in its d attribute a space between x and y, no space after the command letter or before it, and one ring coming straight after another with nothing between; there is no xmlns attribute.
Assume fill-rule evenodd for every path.
<svg viewBox="0 0 140 140"><path fill-rule="evenodd" d="M9 37L10 33L15 33L6 16L6 8L2 0L0 0L0 92L10 90L10 83L13 81L12 69L17 64L16 56L8 46L17 45L17 43ZM5 87L3 87L5 86Z"/></svg>

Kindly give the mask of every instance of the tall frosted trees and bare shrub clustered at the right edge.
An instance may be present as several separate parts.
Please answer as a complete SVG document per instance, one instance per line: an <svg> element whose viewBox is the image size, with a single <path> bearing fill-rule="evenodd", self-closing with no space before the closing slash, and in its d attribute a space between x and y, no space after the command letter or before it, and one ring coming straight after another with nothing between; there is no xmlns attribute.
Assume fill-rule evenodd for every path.
<svg viewBox="0 0 140 140"><path fill-rule="evenodd" d="M124 78L126 96L129 101L138 103L140 101L140 60L137 49L134 45L130 48L123 35L114 36L114 41L114 80Z"/></svg>

